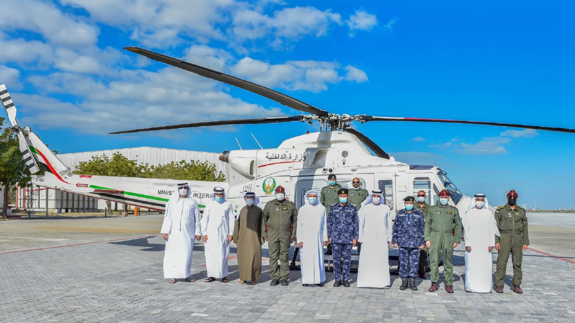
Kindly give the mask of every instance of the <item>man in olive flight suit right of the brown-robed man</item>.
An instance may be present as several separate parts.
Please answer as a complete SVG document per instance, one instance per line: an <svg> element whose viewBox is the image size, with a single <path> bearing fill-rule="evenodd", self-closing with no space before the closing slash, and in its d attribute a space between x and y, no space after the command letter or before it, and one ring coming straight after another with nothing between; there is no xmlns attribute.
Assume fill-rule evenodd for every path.
<svg viewBox="0 0 575 323"><path fill-rule="evenodd" d="M285 189L275 189L275 199L266 203L263 208L263 221L267 226L262 236L267 241L270 251L271 286L287 286L289 278L289 249L296 241L297 208L285 198ZM278 268L279 259L279 268Z"/></svg>

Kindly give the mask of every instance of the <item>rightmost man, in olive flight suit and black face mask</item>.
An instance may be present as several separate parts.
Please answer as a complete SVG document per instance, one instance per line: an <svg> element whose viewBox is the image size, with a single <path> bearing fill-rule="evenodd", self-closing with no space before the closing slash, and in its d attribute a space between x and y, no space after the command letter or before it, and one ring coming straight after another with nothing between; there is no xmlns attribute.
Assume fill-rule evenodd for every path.
<svg viewBox="0 0 575 323"><path fill-rule="evenodd" d="M527 216L525 209L517 205L519 195L515 190L507 193L507 204L497 207L495 211L495 222L497 229L501 234L495 236L495 249L497 249L497 267L495 270L495 291L503 293L503 284L505 283L505 269L511 253L511 262L513 263L513 291L517 294L523 294L521 289L521 280L523 272L521 262L523 260L523 251L527 250L529 245L529 231L527 229Z"/></svg>

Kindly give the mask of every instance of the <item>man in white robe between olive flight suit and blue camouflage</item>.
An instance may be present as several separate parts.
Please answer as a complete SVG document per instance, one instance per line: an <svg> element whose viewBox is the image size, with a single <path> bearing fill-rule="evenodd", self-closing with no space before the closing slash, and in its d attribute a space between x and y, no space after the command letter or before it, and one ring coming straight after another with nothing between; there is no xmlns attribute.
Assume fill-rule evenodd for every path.
<svg viewBox="0 0 575 323"><path fill-rule="evenodd" d="M317 191L309 190L297 216L297 246L300 247L301 284L324 286L323 247L327 245L325 207L317 201Z"/></svg>

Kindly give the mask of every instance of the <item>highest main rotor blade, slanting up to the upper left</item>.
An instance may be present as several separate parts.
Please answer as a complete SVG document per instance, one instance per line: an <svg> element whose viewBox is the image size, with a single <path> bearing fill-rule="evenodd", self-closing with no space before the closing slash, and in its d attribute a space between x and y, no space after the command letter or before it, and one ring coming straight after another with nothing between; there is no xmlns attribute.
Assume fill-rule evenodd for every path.
<svg viewBox="0 0 575 323"><path fill-rule="evenodd" d="M203 66L188 63L187 61L175 59L173 57L148 51L147 49L139 47L124 47L124 49L127 49L128 51L131 52L135 52L150 59L161 61L162 63L166 63L168 65L181 68L182 70L196 73L206 78L218 80L220 82L239 87L240 89L244 89L252 93L262 95L262 97L272 99L275 102L281 103L282 105L285 106L289 106L292 109L312 113L315 114L316 116L327 116L328 114L327 111L317 109L317 107L309 105L308 103L302 102L296 98L292 98L286 94L268 89L267 87L261 86L259 84L252 83L244 79L236 78L235 76L210 70L209 68Z"/></svg>

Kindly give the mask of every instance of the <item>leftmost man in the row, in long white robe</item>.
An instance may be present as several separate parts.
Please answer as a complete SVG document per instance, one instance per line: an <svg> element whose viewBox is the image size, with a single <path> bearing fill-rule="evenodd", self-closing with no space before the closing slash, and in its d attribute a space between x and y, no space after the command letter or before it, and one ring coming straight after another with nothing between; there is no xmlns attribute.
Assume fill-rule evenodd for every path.
<svg viewBox="0 0 575 323"><path fill-rule="evenodd" d="M164 278L173 284L178 278L193 282L190 278L191 251L194 236L199 241L200 209L195 199L190 197L190 186L178 184L178 190L166 203L166 214L162 224L162 233L166 240L164 252Z"/></svg>

